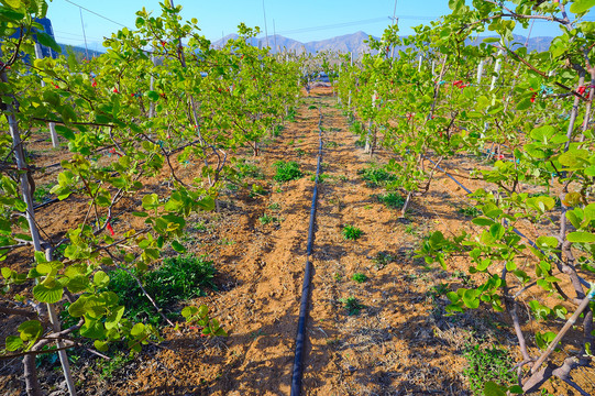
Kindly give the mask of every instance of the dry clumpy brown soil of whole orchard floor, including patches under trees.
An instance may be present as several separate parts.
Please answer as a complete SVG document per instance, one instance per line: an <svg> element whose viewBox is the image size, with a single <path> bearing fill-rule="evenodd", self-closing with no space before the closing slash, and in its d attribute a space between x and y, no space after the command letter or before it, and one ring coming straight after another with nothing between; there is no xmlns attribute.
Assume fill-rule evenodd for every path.
<svg viewBox="0 0 595 396"><path fill-rule="evenodd" d="M329 88L312 90L297 109L296 122L287 122L261 156L245 156L265 175L249 182L268 194L254 196L230 186L219 212L188 221L186 246L207 255L219 271L218 289L189 302L208 305L229 337L205 339L184 323L165 328L163 343L147 345L120 364L114 359L109 375L101 375L100 358L79 351L73 369L81 395L289 394L319 144L319 111L312 106L323 116L324 176L319 185L304 394L470 395L463 375L470 346L502 345L518 358L505 317L482 310L445 316L444 290L472 282L462 275L464 260L453 260L444 271L414 257L429 232L458 233L472 227L459 211L467 205L464 191L439 174L430 193L416 197L407 218L399 218L398 210L375 198L384 189L367 185L359 173L371 162L386 163L390 153L379 151L372 160L364 154L335 103ZM273 182L277 161L298 162L306 176ZM474 166L465 161L448 165ZM188 179L192 176L191 167L178 170ZM154 183L156 189L164 188ZM477 182L466 184L481 187ZM126 205L137 202L131 198ZM55 218L45 217L49 232L80 216L62 204L52 210ZM264 215L279 221L263 224L258 219ZM55 230L52 222L59 222ZM341 231L346 224L360 228L363 235L344 240ZM121 227L125 226L124 221ZM12 258L15 267L26 265ZM357 283L354 274L367 280ZM345 308L348 298L357 301L359 314ZM0 319L3 340L15 319ZM45 363L40 370L45 391L54 396L66 394L57 366ZM575 377L587 392L590 376L593 371ZM23 394L21 377L19 361L0 362L3 394ZM558 383L549 386L553 394L573 394Z"/></svg>

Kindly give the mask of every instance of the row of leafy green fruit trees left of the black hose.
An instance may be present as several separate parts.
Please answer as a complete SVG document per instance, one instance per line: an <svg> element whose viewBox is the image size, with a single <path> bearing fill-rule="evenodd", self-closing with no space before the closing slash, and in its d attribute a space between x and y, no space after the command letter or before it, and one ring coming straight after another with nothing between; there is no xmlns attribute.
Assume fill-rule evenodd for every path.
<svg viewBox="0 0 595 396"><path fill-rule="evenodd" d="M67 349L87 339L99 351L110 343L139 351L161 339L153 326L126 319L118 296L106 290L108 272L142 273L164 246L184 253L176 238L186 219L217 207L223 182L234 180L235 153L257 155L295 105L298 64L249 45L257 29L242 24L239 38L214 50L180 9L168 1L161 15L139 11L134 30L104 42L106 54L77 62L71 53L35 58L34 37L59 52L35 22L45 16L45 0L0 6L0 261L31 263L24 273L2 267L0 312L23 321L1 358L23 359L30 395L41 394L35 356L48 344L57 342L74 395ZM44 168L26 152L48 124L70 153L51 193L84 211L53 234L41 226L52 207L36 213L32 199ZM178 177L183 167L194 168L191 183ZM167 187L157 194L151 178ZM113 226L114 212L136 219L135 227ZM76 324L60 328L60 311ZM225 334L206 307L183 314L203 334Z"/></svg>

